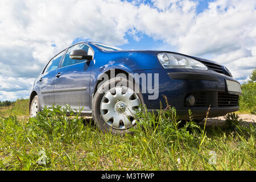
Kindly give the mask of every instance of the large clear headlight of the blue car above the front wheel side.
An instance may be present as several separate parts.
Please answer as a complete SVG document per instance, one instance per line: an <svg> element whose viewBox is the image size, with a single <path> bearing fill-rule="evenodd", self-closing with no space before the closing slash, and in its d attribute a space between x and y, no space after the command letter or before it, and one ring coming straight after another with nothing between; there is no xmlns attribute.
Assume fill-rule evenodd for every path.
<svg viewBox="0 0 256 182"><path fill-rule="evenodd" d="M164 68L186 68L186 69L203 69L208 68L195 59L187 56L177 55L175 53L162 52L158 54L158 60Z"/></svg>

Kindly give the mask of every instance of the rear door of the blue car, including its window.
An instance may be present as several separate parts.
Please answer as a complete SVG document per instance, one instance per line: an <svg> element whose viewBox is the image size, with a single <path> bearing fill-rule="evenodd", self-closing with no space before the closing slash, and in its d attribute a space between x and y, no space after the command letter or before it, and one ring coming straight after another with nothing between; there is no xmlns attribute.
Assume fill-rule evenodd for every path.
<svg viewBox="0 0 256 182"><path fill-rule="evenodd" d="M60 63L64 52L59 53L49 61L39 80L40 98L42 106L52 106L54 104L54 82L56 78L56 69L60 67Z"/></svg>

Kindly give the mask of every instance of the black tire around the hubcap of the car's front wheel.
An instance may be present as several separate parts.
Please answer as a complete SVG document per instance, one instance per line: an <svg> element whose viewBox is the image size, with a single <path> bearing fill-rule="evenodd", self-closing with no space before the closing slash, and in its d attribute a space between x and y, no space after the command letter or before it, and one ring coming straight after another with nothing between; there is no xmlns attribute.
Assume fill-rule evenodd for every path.
<svg viewBox="0 0 256 182"><path fill-rule="evenodd" d="M102 102L102 99L104 98L105 96L105 93L100 93L100 90L106 88L110 88L110 85L117 85L119 81L123 81L123 82L127 82L127 88L129 89L132 89L134 92L135 92L135 84L130 82L129 80L127 80L126 78L123 78L123 77L115 77L115 78L112 78L110 79L109 81L106 81L104 82L104 84L102 84L100 86L100 88L98 88L94 98L93 98L93 106L92 106L92 115L93 115L93 119L94 119L94 122L96 124L96 126L98 127L98 129L100 129L102 132L104 133L113 133L113 134L119 134L119 135L123 135L123 134L126 134L126 133L132 133L130 131L131 127L128 128L128 129L123 129L123 130L120 130L120 129L115 129L114 127L112 126L109 126L106 124L106 122L104 121L104 118L102 118L102 115L101 115L101 102ZM133 85L131 88L131 85ZM123 87L125 88L125 87ZM143 98L142 98L142 94L141 92L140 93L136 93L139 100L141 101L141 104L144 105L144 102L143 102ZM135 125L133 125L132 127L135 127Z"/></svg>

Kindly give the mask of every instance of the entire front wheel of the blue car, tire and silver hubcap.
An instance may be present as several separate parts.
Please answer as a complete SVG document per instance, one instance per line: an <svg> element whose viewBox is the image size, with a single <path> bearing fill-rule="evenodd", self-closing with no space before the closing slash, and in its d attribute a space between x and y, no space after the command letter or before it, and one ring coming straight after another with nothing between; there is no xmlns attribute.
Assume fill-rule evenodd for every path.
<svg viewBox="0 0 256 182"><path fill-rule="evenodd" d="M120 80L127 82L127 86L117 86ZM115 87L110 88L113 84ZM110 89L101 93L106 86ZM116 77L98 88L93 101L93 119L100 130L113 134L131 133L130 129L136 126L136 110L143 104L142 95L135 93L134 86L126 78Z"/></svg>

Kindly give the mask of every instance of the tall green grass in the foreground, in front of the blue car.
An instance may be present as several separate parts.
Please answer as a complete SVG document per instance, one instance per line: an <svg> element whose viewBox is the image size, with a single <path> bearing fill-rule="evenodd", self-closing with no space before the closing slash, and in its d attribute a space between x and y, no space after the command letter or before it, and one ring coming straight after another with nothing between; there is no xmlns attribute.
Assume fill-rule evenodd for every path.
<svg viewBox="0 0 256 182"><path fill-rule="evenodd" d="M0 119L3 170L255 170L255 126L228 129L180 123L174 108L139 112L133 135L102 133L92 122L56 107L38 118ZM73 115L71 113L71 115ZM231 119L230 119L231 117ZM182 127L181 127L182 126ZM216 152L216 164L211 152ZM39 164L46 154L46 164ZM43 159L43 158L42 158Z"/></svg>

